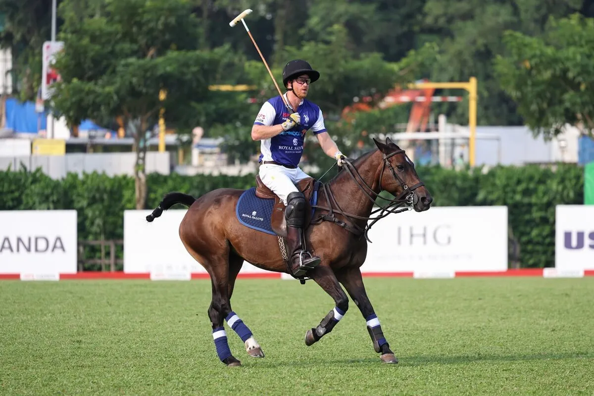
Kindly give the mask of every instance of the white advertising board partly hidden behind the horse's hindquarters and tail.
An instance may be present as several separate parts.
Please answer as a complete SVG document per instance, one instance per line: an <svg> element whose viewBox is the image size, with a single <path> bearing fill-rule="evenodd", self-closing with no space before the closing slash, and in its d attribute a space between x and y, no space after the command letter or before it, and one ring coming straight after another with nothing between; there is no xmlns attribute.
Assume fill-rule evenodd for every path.
<svg viewBox="0 0 594 396"><path fill-rule="evenodd" d="M206 274L204 267L179 239L179 224L187 210L168 210L152 223L151 210L124 211L124 273ZM240 274L270 273L244 262Z"/></svg>

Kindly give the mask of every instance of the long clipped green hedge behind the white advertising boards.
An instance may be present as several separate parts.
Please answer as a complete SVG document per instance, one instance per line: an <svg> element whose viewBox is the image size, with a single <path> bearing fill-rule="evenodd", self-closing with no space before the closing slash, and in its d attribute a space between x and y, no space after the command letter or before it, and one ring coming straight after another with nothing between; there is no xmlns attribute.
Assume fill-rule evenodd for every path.
<svg viewBox="0 0 594 396"><path fill-rule="evenodd" d="M519 244L517 261L522 267L554 266L555 205L583 204L583 168L571 164L498 166L485 173L418 167L418 173L436 206L507 205L510 235ZM151 174L147 183L147 209L152 209L170 191L200 197L216 188L247 189L255 181L254 175ZM129 176L69 174L53 180L39 169L0 172L0 210L75 209L80 240L123 239L123 213L133 208L134 179Z"/></svg>

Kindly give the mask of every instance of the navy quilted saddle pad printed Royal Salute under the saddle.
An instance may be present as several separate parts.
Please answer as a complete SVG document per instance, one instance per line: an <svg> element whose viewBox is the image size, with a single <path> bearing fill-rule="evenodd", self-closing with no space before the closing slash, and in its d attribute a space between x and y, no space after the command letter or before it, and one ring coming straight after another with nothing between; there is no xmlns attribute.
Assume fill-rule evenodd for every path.
<svg viewBox="0 0 594 396"><path fill-rule="evenodd" d="M318 202L318 183L314 183L314 193L309 199L311 205ZM235 214L239 223L254 230L265 232L270 235L276 235L270 226L270 218L272 217L272 208L274 206L274 199L262 199L256 197L256 188L252 187L244 191L237 201L235 207ZM311 211L311 216L314 216L314 211Z"/></svg>

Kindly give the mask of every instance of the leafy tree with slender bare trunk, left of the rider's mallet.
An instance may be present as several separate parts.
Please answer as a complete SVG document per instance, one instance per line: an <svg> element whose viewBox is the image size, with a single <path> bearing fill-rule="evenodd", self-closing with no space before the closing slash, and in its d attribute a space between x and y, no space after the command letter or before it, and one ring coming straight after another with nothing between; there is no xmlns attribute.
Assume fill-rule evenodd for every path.
<svg viewBox="0 0 594 396"><path fill-rule="evenodd" d="M56 59L62 81L52 96L53 112L70 126L122 118L134 138L136 208L143 209L144 157L159 110L172 109L168 120L187 121L179 115L192 103L208 102L208 85L225 69L229 50L196 49L200 29L187 0L106 0L102 12L89 9L83 18L77 3L64 0L60 8L65 45Z"/></svg>

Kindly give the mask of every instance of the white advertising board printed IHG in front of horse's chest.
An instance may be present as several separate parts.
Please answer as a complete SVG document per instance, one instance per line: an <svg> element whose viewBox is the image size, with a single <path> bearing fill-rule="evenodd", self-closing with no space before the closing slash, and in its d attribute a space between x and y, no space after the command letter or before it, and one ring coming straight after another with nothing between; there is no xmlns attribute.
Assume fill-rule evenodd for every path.
<svg viewBox="0 0 594 396"><path fill-rule="evenodd" d="M432 207L390 214L369 230L362 273L507 270L507 207Z"/></svg>

